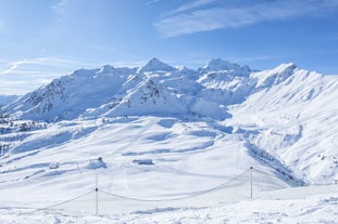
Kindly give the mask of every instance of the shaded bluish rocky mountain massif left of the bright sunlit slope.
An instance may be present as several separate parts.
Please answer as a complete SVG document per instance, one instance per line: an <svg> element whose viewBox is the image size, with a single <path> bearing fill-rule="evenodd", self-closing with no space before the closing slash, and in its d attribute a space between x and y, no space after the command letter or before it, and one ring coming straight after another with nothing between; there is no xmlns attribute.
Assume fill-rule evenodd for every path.
<svg viewBox="0 0 338 224"><path fill-rule="evenodd" d="M217 70L209 71L212 68ZM242 101L253 88L250 69L220 60L203 69L177 69L157 58L138 69L80 69L26 94L7 111L46 121L151 114L225 119L224 108Z"/></svg>

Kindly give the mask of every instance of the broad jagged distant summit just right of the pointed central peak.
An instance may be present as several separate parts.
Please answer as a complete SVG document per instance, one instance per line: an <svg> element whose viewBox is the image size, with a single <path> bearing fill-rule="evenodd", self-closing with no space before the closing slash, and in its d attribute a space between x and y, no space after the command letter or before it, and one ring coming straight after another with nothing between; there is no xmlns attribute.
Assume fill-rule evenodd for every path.
<svg viewBox="0 0 338 224"><path fill-rule="evenodd" d="M206 65L200 68L200 71L221 71L227 70L236 76L249 76L249 66L240 66L236 63L230 63L221 58L211 60Z"/></svg>

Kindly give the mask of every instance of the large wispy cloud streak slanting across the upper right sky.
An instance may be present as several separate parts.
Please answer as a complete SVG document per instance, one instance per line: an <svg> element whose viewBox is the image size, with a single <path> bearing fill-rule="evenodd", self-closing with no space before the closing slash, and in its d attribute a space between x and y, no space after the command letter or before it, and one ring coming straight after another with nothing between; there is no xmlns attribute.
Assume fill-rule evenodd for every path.
<svg viewBox="0 0 338 224"><path fill-rule="evenodd" d="M236 28L262 21L288 19L297 16L321 15L336 10L336 0L289 1L234 1L195 0L172 11L154 24L164 37L208 31L220 28Z"/></svg>

